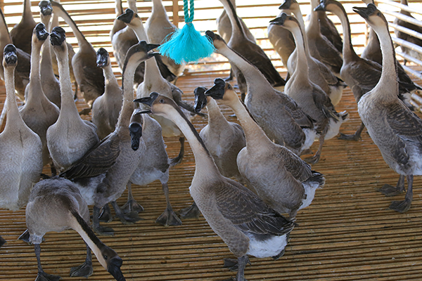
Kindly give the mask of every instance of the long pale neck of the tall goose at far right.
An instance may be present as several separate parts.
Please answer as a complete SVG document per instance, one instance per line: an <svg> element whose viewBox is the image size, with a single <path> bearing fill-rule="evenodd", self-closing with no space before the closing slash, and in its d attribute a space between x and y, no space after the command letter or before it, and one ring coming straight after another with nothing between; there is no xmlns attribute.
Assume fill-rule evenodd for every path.
<svg viewBox="0 0 422 281"><path fill-rule="evenodd" d="M395 63L395 51L392 46L392 40L388 27L377 27L375 30L378 34L381 44L381 52L383 53L383 72L381 78L372 90L376 94L383 97L384 100L397 100L398 83L397 83L397 69ZM377 91L377 89L387 89L386 91ZM394 90L394 91L393 91Z"/></svg>

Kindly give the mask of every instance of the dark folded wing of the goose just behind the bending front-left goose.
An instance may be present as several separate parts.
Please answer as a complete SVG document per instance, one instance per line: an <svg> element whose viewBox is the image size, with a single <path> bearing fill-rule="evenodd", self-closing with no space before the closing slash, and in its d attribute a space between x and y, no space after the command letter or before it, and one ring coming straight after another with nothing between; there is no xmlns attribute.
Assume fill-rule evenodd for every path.
<svg viewBox="0 0 422 281"><path fill-rule="evenodd" d="M104 138L60 176L70 179L90 178L108 171L120 155L120 141L113 136Z"/></svg>

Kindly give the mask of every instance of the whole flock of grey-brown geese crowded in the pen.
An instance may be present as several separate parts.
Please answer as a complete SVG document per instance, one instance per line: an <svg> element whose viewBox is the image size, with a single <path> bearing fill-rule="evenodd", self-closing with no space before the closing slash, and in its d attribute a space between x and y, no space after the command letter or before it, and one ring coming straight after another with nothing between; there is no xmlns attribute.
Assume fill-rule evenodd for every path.
<svg viewBox="0 0 422 281"><path fill-rule="evenodd" d="M413 176L422 174L422 120L411 111L407 97L421 88L397 63L388 23L372 1L353 8L372 29L371 49L361 58L354 52L342 4L312 0L305 26L298 2L286 0L280 15L271 20L269 38L288 67L287 81L236 15L234 1L220 1L221 37L211 31L206 36L231 63L241 98L228 82L231 77L215 79L210 89L195 90L195 105L182 100L174 84L184 65L153 51L175 28L160 0L153 0L145 27L134 0L124 12L117 0L110 37L122 69L121 88L108 52L94 50L60 3L41 1L37 24L30 0L25 0L23 20L10 34L0 11L0 77L6 84L7 110L0 133L0 207L26 206L27 230L20 239L34 244L37 280L60 279L42 269L40 244L46 232L68 228L87 244L87 259L71 268L71 276L92 274L94 251L116 280L125 280L122 259L94 232L114 234L100 224L110 219L108 203L122 223L139 221L143 208L134 200L132 183L155 180L162 183L167 201L156 222L178 226L181 218L203 214L236 256L236 261L227 261L237 268L236 280L245 280L249 255L279 259L298 211L312 203L326 181L311 164L319 161L324 142L337 136L347 121L347 112L335 110L346 86L354 93L362 126L353 136L340 138L358 140L366 126L385 162L399 174L396 187L385 185L379 191L392 196L407 190L405 199L393 201L390 209L405 212L411 207ZM340 18L343 39L325 11ZM58 16L72 28L77 53L57 26ZM77 111L72 83L89 105L84 112ZM22 107L16 96L25 101ZM240 125L228 122L217 102L231 107ZM203 107L208 124L198 133L190 118L205 116L200 113ZM81 119L80 114L89 111L92 121ZM167 155L163 136L180 139L174 159ZM170 204L167 181L170 167L184 157L185 138L196 162L189 188L194 203L179 217ZM312 153L315 140L316 153L300 158ZM52 176L43 174L40 181L46 165ZM126 188L128 200L120 207L116 200ZM92 227L88 205L94 206ZM0 247L4 242L0 237Z"/></svg>

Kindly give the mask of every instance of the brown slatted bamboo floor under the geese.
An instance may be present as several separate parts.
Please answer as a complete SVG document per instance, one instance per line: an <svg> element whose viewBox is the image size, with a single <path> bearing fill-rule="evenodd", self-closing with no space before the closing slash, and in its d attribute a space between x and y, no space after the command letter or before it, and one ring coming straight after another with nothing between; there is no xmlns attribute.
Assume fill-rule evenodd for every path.
<svg viewBox="0 0 422 281"><path fill-rule="evenodd" d="M211 86L215 77L189 75L180 77L177 85L184 90L184 98L193 102L193 89ZM77 105L84 107L81 100ZM361 121L350 89L345 89L337 108L350 113L340 131L354 132ZM227 117L232 113L228 107L222 110ZM199 131L207 121L193 117L193 124ZM167 138L165 142L169 156L176 156L179 141ZM314 143L314 151L317 145ZM176 210L192 203L188 187L195 163L188 143L185 147L183 162L170 170L170 199ZM299 226L290 234L286 254L278 261L251 257L245 277L274 281L421 280L422 178L414 179L414 201L406 214L389 210L390 202L403 200L404 195L393 199L376 188L385 183L395 185L399 177L385 164L366 130L362 141L326 141L321 160L313 169L326 176L326 185L316 191L309 207L299 211ZM115 219L108 223L115 229L115 237L101 237L123 259L126 280L224 280L236 275L223 268L222 259L234 256L202 216L183 221L183 226L166 228L155 223L165 209L158 181L146 187L134 185L134 197L145 209L140 214L143 220L123 225ZM17 240L25 229L25 209L0 210L0 235L7 240L0 249L0 280L34 280L37 276L34 248ZM84 259L84 242L74 230L45 235L41 263L47 273L61 275L63 280L79 280L68 277L69 270ZM94 274L89 280L113 279L95 258L93 263Z"/></svg>

